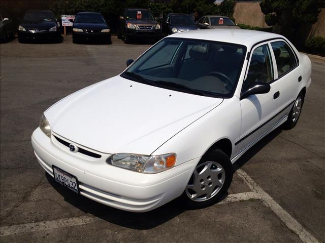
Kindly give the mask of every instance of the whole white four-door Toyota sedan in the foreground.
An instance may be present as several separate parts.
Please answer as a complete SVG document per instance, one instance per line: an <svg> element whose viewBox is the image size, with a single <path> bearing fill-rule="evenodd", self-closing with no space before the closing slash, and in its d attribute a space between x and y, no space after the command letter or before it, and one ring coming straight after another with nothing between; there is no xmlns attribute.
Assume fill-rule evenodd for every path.
<svg viewBox="0 0 325 243"><path fill-rule="evenodd" d="M71 193L133 212L216 203L245 151L295 127L311 83L306 55L252 30L174 34L132 61L47 109L31 143Z"/></svg>

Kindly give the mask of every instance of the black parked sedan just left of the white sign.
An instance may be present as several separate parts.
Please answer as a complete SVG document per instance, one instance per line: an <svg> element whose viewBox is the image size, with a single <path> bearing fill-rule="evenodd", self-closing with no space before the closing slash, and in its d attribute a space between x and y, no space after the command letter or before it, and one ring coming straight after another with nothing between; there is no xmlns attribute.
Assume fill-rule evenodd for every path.
<svg viewBox="0 0 325 243"><path fill-rule="evenodd" d="M18 41L20 43L32 40L61 42L59 27L52 11L27 11L19 23Z"/></svg>

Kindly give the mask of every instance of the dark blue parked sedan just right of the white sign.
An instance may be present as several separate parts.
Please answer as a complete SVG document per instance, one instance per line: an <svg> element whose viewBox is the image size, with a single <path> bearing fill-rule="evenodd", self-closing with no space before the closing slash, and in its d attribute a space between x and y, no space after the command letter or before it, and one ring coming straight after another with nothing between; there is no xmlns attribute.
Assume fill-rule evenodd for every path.
<svg viewBox="0 0 325 243"><path fill-rule="evenodd" d="M111 43L110 28L103 15L93 12L80 12L73 22L73 43L81 41L103 41Z"/></svg>

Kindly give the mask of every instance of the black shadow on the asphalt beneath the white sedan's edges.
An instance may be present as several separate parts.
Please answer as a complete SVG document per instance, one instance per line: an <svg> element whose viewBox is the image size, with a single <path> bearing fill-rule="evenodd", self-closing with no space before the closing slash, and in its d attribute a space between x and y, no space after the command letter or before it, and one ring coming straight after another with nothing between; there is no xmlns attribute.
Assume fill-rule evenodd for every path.
<svg viewBox="0 0 325 243"><path fill-rule="evenodd" d="M271 140L277 137L282 130L276 129L252 148L250 148L240 159L236 161L234 171L240 169L250 158L252 158L259 150L266 146ZM77 195L71 190L64 188L60 184L56 183L54 179L46 173L48 182L53 188L60 193L64 200L72 206L78 208L84 213L91 214L95 217L101 218L107 222L120 225L122 227L146 230L151 229L160 224L163 224L174 217L182 214L185 211L189 211L183 204L180 198L176 198L170 201L168 204L163 205L155 210L145 213L133 213L126 212L118 209L111 208L109 206L97 203L82 195ZM221 199L223 200L228 194L225 194Z"/></svg>

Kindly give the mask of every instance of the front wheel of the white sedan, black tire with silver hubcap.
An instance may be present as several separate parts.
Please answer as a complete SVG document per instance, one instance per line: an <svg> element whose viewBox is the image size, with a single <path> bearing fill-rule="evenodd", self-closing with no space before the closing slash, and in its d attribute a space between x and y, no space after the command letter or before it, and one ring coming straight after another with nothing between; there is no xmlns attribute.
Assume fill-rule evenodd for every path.
<svg viewBox="0 0 325 243"><path fill-rule="evenodd" d="M228 191L233 173L229 157L215 149L201 158L181 198L189 209L211 206Z"/></svg>

